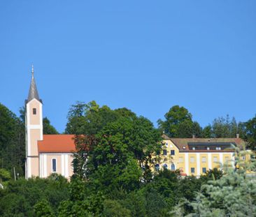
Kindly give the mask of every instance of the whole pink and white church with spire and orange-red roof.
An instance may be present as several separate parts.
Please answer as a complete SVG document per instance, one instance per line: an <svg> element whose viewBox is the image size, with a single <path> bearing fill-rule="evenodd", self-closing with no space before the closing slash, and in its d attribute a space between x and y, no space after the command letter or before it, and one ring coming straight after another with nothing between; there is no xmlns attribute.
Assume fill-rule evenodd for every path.
<svg viewBox="0 0 256 217"><path fill-rule="evenodd" d="M33 68L25 110L26 178L46 178L58 173L69 179L73 174L73 151L76 149L73 135L43 135L43 102L38 95Z"/></svg>

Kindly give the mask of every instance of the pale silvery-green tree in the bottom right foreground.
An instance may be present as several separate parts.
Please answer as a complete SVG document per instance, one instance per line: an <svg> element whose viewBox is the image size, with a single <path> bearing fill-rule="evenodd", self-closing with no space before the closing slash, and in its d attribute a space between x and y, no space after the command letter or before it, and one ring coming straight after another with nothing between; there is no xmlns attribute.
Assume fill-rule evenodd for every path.
<svg viewBox="0 0 256 217"><path fill-rule="evenodd" d="M256 161L254 157L250 161L242 160L241 156L247 155L254 156L253 152L236 149L236 167L225 164L220 179L201 186L196 200L188 203L193 207L188 216L255 216L256 181L248 172L255 174Z"/></svg>

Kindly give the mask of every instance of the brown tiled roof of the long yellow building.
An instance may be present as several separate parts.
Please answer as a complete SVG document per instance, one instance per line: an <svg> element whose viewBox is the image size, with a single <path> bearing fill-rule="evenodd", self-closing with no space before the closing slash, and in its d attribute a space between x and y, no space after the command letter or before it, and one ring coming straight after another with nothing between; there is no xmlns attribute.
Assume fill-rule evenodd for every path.
<svg viewBox="0 0 256 217"><path fill-rule="evenodd" d="M166 135L163 135L164 140L171 140L173 144L180 150L180 152L208 152L209 150L190 150L189 144L207 144L211 147L215 145L222 144L235 144L238 147L243 147L245 142L241 138L170 138ZM223 152L223 151L234 151L232 149L224 150L211 150L211 152Z"/></svg>

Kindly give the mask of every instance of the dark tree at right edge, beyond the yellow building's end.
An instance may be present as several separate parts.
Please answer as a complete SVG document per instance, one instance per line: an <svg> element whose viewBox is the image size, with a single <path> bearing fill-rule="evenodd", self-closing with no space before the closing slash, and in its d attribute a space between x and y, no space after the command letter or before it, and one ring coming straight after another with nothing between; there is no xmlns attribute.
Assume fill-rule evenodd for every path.
<svg viewBox="0 0 256 217"><path fill-rule="evenodd" d="M250 119L245 124L245 140L248 142L248 147L256 150L256 116Z"/></svg>

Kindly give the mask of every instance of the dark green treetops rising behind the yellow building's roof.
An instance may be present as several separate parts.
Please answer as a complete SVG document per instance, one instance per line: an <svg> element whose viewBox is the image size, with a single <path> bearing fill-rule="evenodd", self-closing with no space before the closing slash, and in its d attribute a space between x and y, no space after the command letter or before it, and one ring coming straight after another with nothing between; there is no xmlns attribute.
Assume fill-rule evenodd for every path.
<svg viewBox="0 0 256 217"><path fill-rule="evenodd" d="M192 121L192 114L190 114L185 107L179 107L178 105L171 107L164 117L164 121L159 119L157 122L159 130L169 135L169 137L189 138L194 135L194 137L204 138L231 138L236 137L237 133L239 133L241 137L246 137L248 133L250 134L250 130L253 130L250 126L252 122L248 121L247 126L250 130L246 133L246 124L241 122L237 123L234 117L230 120L229 115L225 118L219 117L218 119L214 119L212 124L202 129L197 121ZM251 121L253 121L253 119Z"/></svg>

